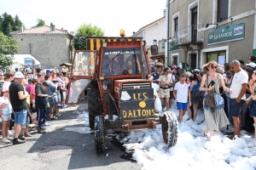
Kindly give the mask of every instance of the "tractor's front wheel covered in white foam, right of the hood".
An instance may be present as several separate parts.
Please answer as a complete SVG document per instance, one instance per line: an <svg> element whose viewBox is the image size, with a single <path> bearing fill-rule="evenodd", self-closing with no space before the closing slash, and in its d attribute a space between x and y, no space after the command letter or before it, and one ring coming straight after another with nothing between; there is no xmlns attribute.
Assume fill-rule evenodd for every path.
<svg viewBox="0 0 256 170"><path fill-rule="evenodd" d="M164 122L162 123L162 134L167 147L177 143L177 116L171 111L166 111L163 114Z"/></svg>

